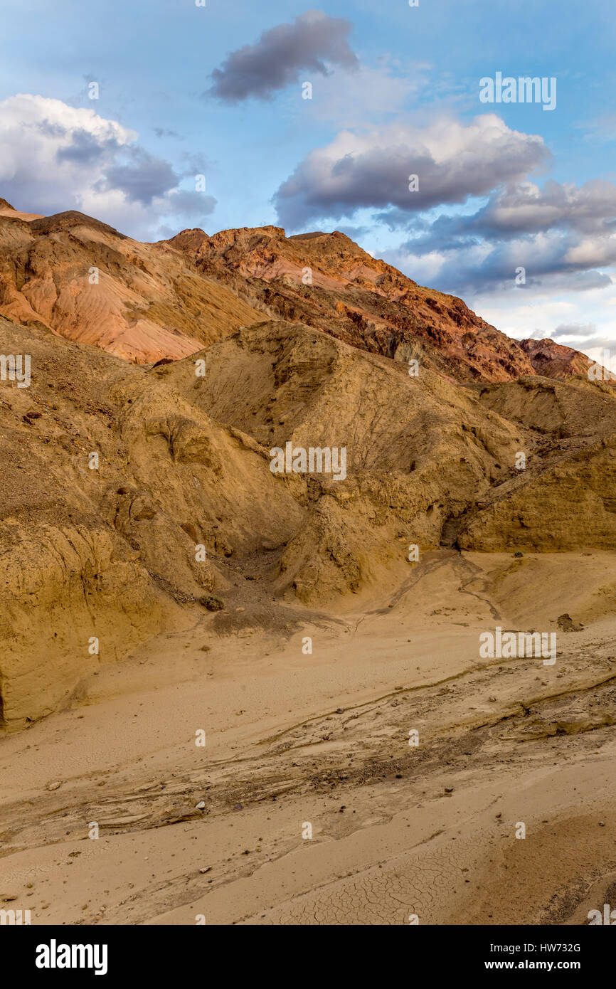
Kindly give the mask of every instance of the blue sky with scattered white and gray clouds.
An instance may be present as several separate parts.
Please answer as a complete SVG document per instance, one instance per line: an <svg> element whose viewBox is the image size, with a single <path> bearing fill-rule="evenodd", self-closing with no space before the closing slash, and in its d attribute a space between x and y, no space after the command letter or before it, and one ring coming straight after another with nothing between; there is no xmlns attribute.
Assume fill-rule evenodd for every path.
<svg viewBox="0 0 616 989"><path fill-rule="evenodd" d="M509 335L616 370L613 0L2 8L16 209L141 240L339 229Z"/></svg>

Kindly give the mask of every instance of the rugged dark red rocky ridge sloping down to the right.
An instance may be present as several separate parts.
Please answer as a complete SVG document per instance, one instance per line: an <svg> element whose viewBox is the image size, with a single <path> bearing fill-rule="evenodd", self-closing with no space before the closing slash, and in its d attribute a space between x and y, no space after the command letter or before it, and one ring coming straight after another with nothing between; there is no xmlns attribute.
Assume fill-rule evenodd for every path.
<svg viewBox="0 0 616 989"><path fill-rule="evenodd" d="M460 381L538 373L529 355L461 300L423 288L339 230L287 237L280 226L183 230L169 241L270 316L299 320L373 353L417 357ZM575 353L572 351L572 353ZM577 355L585 368L586 358ZM561 376L558 361L542 374Z"/></svg>

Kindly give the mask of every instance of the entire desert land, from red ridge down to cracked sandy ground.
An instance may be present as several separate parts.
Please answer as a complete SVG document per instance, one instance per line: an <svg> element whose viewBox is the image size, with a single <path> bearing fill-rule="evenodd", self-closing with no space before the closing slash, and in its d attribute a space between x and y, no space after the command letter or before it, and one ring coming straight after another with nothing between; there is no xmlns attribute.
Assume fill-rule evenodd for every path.
<svg viewBox="0 0 616 989"><path fill-rule="evenodd" d="M0 201L0 907L585 925L616 392L339 231Z"/></svg>

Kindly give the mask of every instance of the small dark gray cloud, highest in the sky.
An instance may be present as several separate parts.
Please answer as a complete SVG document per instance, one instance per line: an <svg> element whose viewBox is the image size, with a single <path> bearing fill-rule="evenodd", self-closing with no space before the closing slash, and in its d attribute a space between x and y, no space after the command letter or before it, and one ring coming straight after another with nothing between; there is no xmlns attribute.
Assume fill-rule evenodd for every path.
<svg viewBox="0 0 616 989"><path fill-rule="evenodd" d="M348 43L350 31L349 21L310 10L293 24L264 32L256 45L231 51L213 71L208 93L227 103L267 100L296 82L301 71L327 75L328 64L355 68L359 63Z"/></svg>

